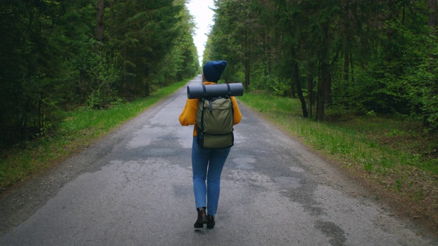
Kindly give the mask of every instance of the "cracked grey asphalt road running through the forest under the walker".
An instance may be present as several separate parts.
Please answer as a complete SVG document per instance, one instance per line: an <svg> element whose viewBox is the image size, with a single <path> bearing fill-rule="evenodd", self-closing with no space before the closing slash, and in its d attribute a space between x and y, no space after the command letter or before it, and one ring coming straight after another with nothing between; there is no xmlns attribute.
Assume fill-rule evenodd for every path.
<svg viewBox="0 0 438 246"><path fill-rule="evenodd" d="M438 245L242 104L216 227L193 228L185 99L184 87L3 195L0 245Z"/></svg>

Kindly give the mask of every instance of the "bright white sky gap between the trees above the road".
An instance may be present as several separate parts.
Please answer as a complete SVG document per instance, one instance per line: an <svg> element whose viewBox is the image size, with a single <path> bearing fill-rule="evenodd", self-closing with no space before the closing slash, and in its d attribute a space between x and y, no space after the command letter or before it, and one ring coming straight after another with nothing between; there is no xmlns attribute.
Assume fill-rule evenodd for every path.
<svg viewBox="0 0 438 246"><path fill-rule="evenodd" d="M193 39L196 49L198 50L199 64L201 64L205 43L207 42L207 34L214 24L214 12L209 9L214 8L214 3L213 0L190 0L187 6L190 14L194 16L194 22L196 23L196 31Z"/></svg>

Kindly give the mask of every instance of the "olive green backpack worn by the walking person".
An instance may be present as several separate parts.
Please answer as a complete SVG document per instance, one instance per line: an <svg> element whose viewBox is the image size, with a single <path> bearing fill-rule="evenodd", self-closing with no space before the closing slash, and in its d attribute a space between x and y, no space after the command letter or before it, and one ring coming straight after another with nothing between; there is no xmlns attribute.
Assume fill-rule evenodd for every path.
<svg viewBox="0 0 438 246"><path fill-rule="evenodd" d="M229 96L200 98L196 141L203 148L230 148L234 145L233 122L233 101Z"/></svg>

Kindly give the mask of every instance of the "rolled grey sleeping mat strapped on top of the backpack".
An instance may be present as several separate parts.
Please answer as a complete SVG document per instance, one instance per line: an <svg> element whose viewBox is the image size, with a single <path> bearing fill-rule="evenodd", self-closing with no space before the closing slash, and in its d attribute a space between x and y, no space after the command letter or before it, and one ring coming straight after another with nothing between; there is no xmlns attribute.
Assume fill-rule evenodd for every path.
<svg viewBox="0 0 438 246"><path fill-rule="evenodd" d="M218 85L188 85L187 98L214 98L218 96L242 96L242 83L225 83Z"/></svg>

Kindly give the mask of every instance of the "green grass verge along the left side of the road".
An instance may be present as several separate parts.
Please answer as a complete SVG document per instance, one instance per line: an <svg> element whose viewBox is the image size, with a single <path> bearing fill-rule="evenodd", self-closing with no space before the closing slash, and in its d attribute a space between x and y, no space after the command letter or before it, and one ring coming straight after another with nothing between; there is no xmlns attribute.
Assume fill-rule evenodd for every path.
<svg viewBox="0 0 438 246"><path fill-rule="evenodd" d="M118 103L105 110L81 107L75 111L65 112L64 120L55 131L27 142L25 148L14 148L0 153L0 190L8 189L40 174L69 154L83 150L95 139L136 117L186 83L187 80L174 83L148 98Z"/></svg>

